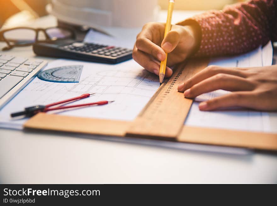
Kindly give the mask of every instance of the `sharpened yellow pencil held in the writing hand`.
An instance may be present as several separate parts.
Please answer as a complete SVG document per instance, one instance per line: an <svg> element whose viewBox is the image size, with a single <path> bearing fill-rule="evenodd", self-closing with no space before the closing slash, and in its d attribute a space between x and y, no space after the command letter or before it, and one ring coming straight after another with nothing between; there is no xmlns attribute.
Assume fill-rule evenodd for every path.
<svg viewBox="0 0 277 206"><path fill-rule="evenodd" d="M169 0L168 11L167 11L167 23L166 23L164 38L166 37L167 33L171 29L171 18L172 18L172 12L173 12L174 3L175 3L174 0ZM167 67L167 53L166 53L166 59L164 61L161 61L160 73L159 73L160 85L163 82L163 79L165 77L166 67Z"/></svg>

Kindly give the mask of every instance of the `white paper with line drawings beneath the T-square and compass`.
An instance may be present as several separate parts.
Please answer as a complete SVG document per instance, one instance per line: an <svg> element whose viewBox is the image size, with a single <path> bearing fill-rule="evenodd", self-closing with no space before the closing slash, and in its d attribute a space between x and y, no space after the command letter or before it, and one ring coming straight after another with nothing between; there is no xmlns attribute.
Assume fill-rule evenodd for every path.
<svg viewBox="0 0 277 206"><path fill-rule="evenodd" d="M272 63L272 46L260 47L249 53L216 58L210 64L230 67L266 66ZM95 95L71 104L96 101L115 101L102 106L74 109L60 112L62 115L132 121L144 108L159 87L159 79L144 70L134 60L116 65L88 63L82 61L56 60L45 69L58 66L82 65L82 73L77 83L46 82L34 78L5 107L0 110L0 127L21 129L25 119L11 119L10 114L25 107L45 105L73 98L84 93ZM177 91L176 91L177 92ZM199 102L226 94L217 90L195 98L185 121L186 125L222 129L240 129L270 132L267 112L236 108L228 111L203 112L198 109ZM57 113L57 111L53 111ZM220 123L219 123L220 122Z"/></svg>

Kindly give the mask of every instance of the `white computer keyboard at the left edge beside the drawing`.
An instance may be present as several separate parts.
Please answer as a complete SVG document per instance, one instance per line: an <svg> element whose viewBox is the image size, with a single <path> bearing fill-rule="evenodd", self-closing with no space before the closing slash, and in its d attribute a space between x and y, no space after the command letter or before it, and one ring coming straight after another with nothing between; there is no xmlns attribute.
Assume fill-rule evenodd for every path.
<svg viewBox="0 0 277 206"><path fill-rule="evenodd" d="M0 108L25 87L47 61L0 53Z"/></svg>

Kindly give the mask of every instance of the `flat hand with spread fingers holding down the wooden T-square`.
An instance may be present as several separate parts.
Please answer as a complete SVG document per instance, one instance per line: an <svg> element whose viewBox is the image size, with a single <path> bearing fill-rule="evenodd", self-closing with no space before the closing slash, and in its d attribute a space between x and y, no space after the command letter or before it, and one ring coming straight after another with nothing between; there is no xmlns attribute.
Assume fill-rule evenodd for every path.
<svg viewBox="0 0 277 206"><path fill-rule="evenodd" d="M201 102L200 110L233 106L277 110L277 65L252 68L211 65L178 86L186 98L218 89L232 92Z"/></svg>

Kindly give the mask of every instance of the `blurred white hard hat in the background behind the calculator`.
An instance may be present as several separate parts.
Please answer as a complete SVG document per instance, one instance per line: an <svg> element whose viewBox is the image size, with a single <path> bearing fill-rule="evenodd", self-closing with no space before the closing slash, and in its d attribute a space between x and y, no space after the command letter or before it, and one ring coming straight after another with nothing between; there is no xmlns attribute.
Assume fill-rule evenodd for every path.
<svg viewBox="0 0 277 206"><path fill-rule="evenodd" d="M158 0L51 0L50 14L65 23L96 29L142 27L158 18Z"/></svg>

